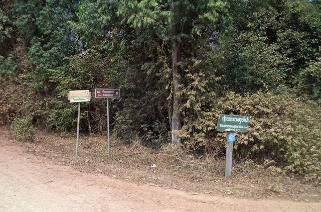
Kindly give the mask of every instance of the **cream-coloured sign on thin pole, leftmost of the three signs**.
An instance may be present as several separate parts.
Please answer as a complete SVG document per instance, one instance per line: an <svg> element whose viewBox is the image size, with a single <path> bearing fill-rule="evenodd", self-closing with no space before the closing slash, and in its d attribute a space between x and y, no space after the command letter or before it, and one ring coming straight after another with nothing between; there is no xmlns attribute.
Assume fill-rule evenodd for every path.
<svg viewBox="0 0 321 212"><path fill-rule="evenodd" d="M77 121L77 142L76 142L76 162L78 157L79 122L80 122L80 102L90 101L91 93L89 90L71 90L68 93L70 102L78 102L78 121Z"/></svg>

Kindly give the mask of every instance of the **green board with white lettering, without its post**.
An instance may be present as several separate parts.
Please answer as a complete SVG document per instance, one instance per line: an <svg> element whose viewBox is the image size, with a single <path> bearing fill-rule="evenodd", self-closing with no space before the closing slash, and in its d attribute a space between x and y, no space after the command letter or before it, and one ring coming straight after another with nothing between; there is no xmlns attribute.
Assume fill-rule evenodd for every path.
<svg viewBox="0 0 321 212"><path fill-rule="evenodd" d="M247 132L250 117L220 115L217 131Z"/></svg>

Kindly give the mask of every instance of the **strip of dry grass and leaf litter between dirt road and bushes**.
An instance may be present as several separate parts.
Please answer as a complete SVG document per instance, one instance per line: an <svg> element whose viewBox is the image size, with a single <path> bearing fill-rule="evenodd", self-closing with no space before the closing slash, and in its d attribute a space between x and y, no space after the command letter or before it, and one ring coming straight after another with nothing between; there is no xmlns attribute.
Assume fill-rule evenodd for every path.
<svg viewBox="0 0 321 212"><path fill-rule="evenodd" d="M13 139L8 129L0 137ZM80 135L78 162L75 164L75 134L38 132L35 143L22 143L29 152L52 158L80 171L102 173L113 178L186 192L230 195L237 198L278 198L297 201L321 201L317 184L294 176L273 176L263 166L247 159L233 164L232 178L224 178L224 158L217 154L193 155L177 151L171 145L155 151L141 145L139 138L124 145L107 137ZM153 164L156 167L152 167Z"/></svg>

